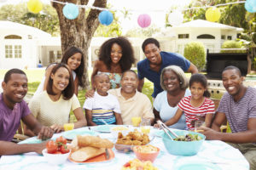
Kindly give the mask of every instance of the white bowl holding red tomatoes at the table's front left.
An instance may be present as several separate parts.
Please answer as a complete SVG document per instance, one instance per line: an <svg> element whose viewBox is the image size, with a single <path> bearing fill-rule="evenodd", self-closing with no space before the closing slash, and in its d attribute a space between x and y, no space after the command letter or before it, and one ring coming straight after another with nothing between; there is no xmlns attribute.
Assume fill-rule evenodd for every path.
<svg viewBox="0 0 256 170"><path fill-rule="evenodd" d="M67 157L70 154L70 150L67 154L49 154L46 149L44 149L42 152L45 159L50 164L53 164L53 165L63 164L65 161L67 161Z"/></svg>

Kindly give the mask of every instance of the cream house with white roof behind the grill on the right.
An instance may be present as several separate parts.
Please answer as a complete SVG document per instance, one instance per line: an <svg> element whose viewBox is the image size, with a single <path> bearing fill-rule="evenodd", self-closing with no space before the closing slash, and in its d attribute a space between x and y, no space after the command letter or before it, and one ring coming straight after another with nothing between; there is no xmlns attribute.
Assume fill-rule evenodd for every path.
<svg viewBox="0 0 256 170"><path fill-rule="evenodd" d="M172 26L157 35L162 49L183 54L183 49L188 42L198 41L212 52L219 52L221 45L226 40L236 40L242 28L227 26L207 20L192 20L180 26Z"/></svg>

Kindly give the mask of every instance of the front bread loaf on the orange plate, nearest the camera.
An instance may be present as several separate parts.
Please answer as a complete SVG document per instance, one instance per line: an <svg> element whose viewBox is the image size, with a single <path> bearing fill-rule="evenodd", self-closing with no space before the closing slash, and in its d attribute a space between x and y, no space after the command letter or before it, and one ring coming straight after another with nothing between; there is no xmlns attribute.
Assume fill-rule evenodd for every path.
<svg viewBox="0 0 256 170"><path fill-rule="evenodd" d="M71 158L73 161L86 161L92 157L99 156L105 152L103 148L96 148L96 147L84 147L80 148L79 150L74 151L71 154Z"/></svg>

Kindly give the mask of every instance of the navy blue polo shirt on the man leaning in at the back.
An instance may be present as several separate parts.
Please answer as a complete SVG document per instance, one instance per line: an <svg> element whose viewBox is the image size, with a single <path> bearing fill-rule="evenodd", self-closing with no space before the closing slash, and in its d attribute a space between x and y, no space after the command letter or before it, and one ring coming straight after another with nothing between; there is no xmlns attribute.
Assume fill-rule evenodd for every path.
<svg viewBox="0 0 256 170"><path fill-rule="evenodd" d="M147 58L137 63L138 78L143 79L146 77L150 82L154 83L154 93L152 94L153 98L155 98L157 94L163 91L160 86L160 75L161 71L166 66L177 65L180 66L183 71L188 71L190 66L190 61L185 59L181 54L161 51L160 56L162 58L162 65L159 72L150 70L149 60Z"/></svg>

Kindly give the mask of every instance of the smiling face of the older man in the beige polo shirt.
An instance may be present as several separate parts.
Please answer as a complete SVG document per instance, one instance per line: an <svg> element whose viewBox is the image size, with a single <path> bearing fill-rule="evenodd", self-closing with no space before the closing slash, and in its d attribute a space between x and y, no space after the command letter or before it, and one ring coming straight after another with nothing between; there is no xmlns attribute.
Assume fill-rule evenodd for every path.
<svg viewBox="0 0 256 170"><path fill-rule="evenodd" d="M133 94L137 89L137 75L134 72L126 71L121 80L121 90L125 94Z"/></svg>

